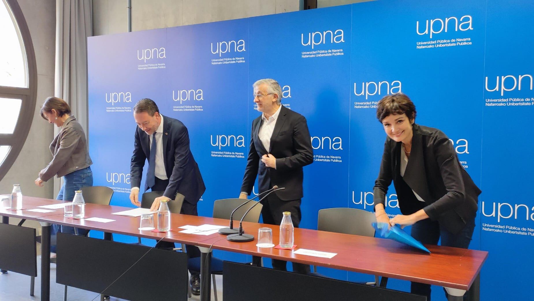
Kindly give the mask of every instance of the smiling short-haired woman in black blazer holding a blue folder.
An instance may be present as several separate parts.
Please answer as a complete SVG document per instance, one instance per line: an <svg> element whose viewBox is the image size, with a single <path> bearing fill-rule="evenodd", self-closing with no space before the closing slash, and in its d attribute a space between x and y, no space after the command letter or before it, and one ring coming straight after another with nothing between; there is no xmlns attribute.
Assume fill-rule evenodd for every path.
<svg viewBox="0 0 534 301"><path fill-rule="evenodd" d="M415 105L402 93L378 102L376 117L388 135L374 185L376 221L413 225L412 237L437 245L465 248L475 227L481 190L460 165L449 138L439 129L415 124ZM402 214L389 218L384 208L393 181ZM427 296L430 284L412 282L411 292Z"/></svg>

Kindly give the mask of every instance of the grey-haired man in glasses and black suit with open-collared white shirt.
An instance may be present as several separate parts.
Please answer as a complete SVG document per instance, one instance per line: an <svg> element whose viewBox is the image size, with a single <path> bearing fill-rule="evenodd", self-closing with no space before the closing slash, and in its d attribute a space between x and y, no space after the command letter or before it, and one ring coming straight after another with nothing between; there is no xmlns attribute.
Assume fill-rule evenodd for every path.
<svg viewBox="0 0 534 301"><path fill-rule="evenodd" d="M260 79L253 87L254 102L262 115L252 123L250 151L239 198L247 198L256 176L260 193L274 185L284 187L262 201L263 222L279 225L282 213L289 211L293 225L298 227L303 197L302 167L313 162L306 118L281 105L282 90L276 80ZM272 266L276 270L286 271L285 261L272 259ZM310 272L310 266L293 263L293 270L306 274Z"/></svg>

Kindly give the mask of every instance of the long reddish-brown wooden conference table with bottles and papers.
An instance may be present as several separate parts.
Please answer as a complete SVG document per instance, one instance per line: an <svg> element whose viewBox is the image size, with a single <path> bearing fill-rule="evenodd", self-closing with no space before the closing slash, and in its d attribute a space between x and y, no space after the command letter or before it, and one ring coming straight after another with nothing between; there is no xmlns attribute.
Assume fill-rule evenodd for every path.
<svg viewBox="0 0 534 301"><path fill-rule="evenodd" d="M22 204L25 210L7 210L0 206L0 215L4 217L18 217L35 220L43 227L42 254L50 252L50 224L61 224L80 227L84 229L132 235L135 237L151 238L187 245L198 246L201 250L201 272L209 271L209 248L233 251L241 254L262 256L303 264L331 267L345 271L353 271L387 278L396 278L408 281L443 286L446 288L468 290L472 285L478 286L480 271L488 252L459 249L451 247L426 245L431 254L402 245L399 242L349 235L334 232L317 231L310 229L295 229L294 241L296 249L311 249L329 253L337 253L333 258L321 258L294 254L290 250L256 247L258 229L270 227L273 230L273 241L278 241L279 227L259 223L243 223L246 233L253 234L254 241L231 242L222 234L195 235L179 233L179 226L183 225L225 225L227 219L183 214L171 214L171 231L167 233L140 231L139 217L112 215L111 213L131 208L120 206L104 206L96 204L85 205L85 216L115 219L115 222L100 223L84 221L84 219L69 219L63 216L63 209L55 209L50 213L37 213L27 211L42 205L59 204L58 200L23 197ZM3 219L5 223L5 218ZM234 222L238 228L239 223ZM48 244L48 246L46 246ZM295 249L295 250L296 250ZM208 259L208 260L206 260ZM49 300L50 295L50 261L49 256L42 256L41 261L41 298ZM201 273L201 300L209 300L211 283L209 273ZM478 293L474 296L478 299Z"/></svg>

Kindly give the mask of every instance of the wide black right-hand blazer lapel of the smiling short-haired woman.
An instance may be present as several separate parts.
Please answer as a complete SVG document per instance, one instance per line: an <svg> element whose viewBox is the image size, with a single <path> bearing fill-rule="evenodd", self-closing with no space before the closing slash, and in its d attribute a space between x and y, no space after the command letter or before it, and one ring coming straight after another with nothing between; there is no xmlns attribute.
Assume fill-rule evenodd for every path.
<svg viewBox="0 0 534 301"><path fill-rule="evenodd" d="M417 192L417 194L419 194L423 200L430 201L431 199L428 191L422 135L417 131L417 129L418 126L414 125L412 150L403 178L404 181L410 185L410 188Z"/></svg>

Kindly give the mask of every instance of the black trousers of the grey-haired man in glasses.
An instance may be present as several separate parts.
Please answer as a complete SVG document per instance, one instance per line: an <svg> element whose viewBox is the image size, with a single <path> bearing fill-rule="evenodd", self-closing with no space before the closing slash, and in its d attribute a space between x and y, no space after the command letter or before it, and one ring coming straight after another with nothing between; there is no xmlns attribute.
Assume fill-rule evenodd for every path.
<svg viewBox="0 0 534 301"><path fill-rule="evenodd" d="M300 204L301 199L284 201L280 200L276 192L269 194L269 196L262 200L262 217L264 224L280 225L284 211L291 213L291 221L295 228L299 227L301 221ZM273 241L277 245L276 241ZM253 256L252 262L254 265L260 265L261 257ZM274 270L287 271L287 262L278 259L272 259L272 267ZM293 263L293 271L300 274L309 274L310 266L308 264Z"/></svg>

